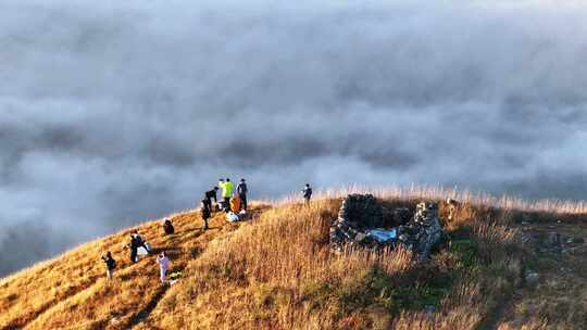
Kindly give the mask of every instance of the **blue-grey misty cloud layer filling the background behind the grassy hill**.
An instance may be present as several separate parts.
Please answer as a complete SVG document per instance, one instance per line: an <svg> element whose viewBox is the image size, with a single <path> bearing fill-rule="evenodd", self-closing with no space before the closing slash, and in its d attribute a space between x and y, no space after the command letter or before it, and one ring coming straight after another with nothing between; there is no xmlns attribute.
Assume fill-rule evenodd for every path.
<svg viewBox="0 0 587 330"><path fill-rule="evenodd" d="M0 2L0 276L196 207L440 185L587 199L580 1Z"/></svg>

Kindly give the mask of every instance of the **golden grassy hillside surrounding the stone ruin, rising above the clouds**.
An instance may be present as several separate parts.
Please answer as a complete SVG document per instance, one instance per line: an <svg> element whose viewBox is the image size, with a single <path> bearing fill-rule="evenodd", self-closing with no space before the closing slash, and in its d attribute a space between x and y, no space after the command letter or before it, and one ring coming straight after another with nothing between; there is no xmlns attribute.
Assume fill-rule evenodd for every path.
<svg viewBox="0 0 587 330"><path fill-rule="evenodd" d="M0 329L585 329L584 204L472 196L434 189L374 192L389 205L439 202L447 232L429 261L402 249L328 249L345 192L304 206L253 204L252 219L198 212L89 242L0 281ZM448 221L448 196L461 203ZM168 252L179 280L159 283L153 256L123 250L139 229ZM562 243L550 238L559 233ZM100 255L118 261L105 280Z"/></svg>

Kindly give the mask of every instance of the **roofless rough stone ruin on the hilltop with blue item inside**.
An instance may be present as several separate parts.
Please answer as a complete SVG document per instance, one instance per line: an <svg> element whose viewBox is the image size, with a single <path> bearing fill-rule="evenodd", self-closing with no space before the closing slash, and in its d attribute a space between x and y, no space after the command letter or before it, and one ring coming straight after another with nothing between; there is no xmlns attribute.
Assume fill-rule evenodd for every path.
<svg viewBox="0 0 587 330"><path fill-rule="evenodd" d="M407 207L390 212L372 194L349 194L330 227L330 250L340 253L346 245L372 249L403 245L426 258L441 237L437 203L422 202L412 214Z"/></svg>

